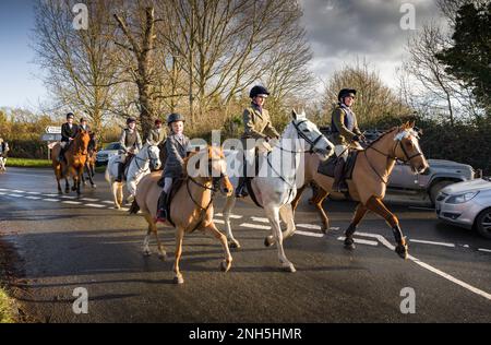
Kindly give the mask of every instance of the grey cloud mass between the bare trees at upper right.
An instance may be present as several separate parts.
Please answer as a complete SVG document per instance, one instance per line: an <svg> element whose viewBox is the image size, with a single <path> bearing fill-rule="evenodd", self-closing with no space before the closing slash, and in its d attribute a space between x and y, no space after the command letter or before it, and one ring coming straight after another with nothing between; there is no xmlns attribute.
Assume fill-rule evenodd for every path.
<svg viewBox="0 0 491 345"><path fill-rule="evenodd" d="M417 29L439 17L433 0L300 0L314 52L312 71L325 80L344 64L367 59L394 86L395 69L406 55L407 39L415 34L400 27L404 3L414 4Z"/></svg>

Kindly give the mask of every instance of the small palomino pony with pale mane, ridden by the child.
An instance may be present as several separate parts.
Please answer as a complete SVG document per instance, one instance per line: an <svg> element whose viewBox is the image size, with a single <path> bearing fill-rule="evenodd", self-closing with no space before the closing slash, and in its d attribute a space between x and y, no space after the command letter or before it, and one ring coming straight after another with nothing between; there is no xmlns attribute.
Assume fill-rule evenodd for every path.
<svg viewBox="0 0 491 345"><path fill-rule="evenodd" d="M221 262L221 270L228 272L231 267L232 258L228 249L227 237L223 235L215 226L213 221L214 194L219 190L221 193L230 195L233 193L231 186L226 175L226 162L224 153L218 147L208 147L199 153L191 154L185 160L184 171L191 172L190 168L196 165L197 162L202 168L197 167L199 174L195 177L185 176L179 190L176 192L170 205L170 219L173 225L165 224L169 227L176 228L176 263L173 265L175 283L183 284L184 279L179 270L179 261L182 254L182 240L184 234L193 233L195 230L203 230L211 233L220 242L225 251L225 261ZM206 163L206 166L202 165ZM203 172L205 167L205 172ZM207 167L207 169L206 169ZM145 176L139 183L136 198L131 206L130 212L136 214L142 211L143 216L148 223L148 231L144 241L144 254L149 255L149 237L155 234L157 238L158 251L160 257L166 259L166 251L158 238L156 213L158 198L160 197L161 187L158 186L160 172L153 172Z"/></svg>

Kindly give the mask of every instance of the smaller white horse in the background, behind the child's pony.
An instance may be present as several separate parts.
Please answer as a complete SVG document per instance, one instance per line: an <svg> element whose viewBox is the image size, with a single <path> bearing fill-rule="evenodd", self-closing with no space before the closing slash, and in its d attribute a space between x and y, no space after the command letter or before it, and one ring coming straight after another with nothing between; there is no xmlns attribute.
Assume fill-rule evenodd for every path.
<svg viewBox="0 0 491 345"><path fill-rule="evenodd" d="M106 169L106 181L111 186L112 197L115 199L116 209L120 210L123 202L123 186L127 185L130 195L127 199L127 203L132 203L136 195L136 186L141 179L151 174L151 166L155 170L158 170L161 166L160 150L158 145L154 143L146 143L142 150L131 160L128 168L127 180L117 182L118 178L118 163L121 160L119 155L112 156L109 159Z"/></svg>

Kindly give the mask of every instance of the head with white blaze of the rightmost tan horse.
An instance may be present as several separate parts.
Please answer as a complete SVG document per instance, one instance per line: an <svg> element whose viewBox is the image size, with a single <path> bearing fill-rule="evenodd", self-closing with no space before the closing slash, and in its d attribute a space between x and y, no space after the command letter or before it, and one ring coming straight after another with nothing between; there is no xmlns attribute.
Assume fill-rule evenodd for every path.
<svg viewBox="0 0 491 345"><path fill-rule="evenodd" d="M407 122L398 129L394 138L397 143L394 155L398 159L409 163L415 174L424 172L430 167L419 145L419 135L420 132L415 129L415 122Z"/></svg>

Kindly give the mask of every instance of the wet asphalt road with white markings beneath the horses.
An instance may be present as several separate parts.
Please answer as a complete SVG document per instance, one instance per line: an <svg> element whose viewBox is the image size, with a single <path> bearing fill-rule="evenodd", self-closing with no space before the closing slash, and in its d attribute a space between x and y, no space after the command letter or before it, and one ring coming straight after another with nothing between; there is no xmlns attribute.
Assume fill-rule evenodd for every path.
<svg viewBox="0 0 491 345"><path fill-rule="evenodd" d="M76 199L56 193L49 170L12 168L0 176L0 238L15 248L12 287L34 320L491 322L491 241L440 224L432 210L390 205L410 239L411 258L403 261L376 216L362 223L357 250L349 252L342 237L355 205L326 202L334 228L323 236L304 202L296 215L299 231L285 245L298 270L291 274L280 270L275 248L264 248L262 210L239 202L233 228L242 249L232 251L231 271L219 271L219 243L196 233L184 238L185 284L177 286L173 231L161 233L167 262L143 257L144 219L113 210L103 176L96 181L97 189ZM223 228L219 214L216 219ZM88 293L86 314L73 311L76 288ZM405 300L410 292L415 304ZM402 305L415 313L402 312Z"/></svg>

